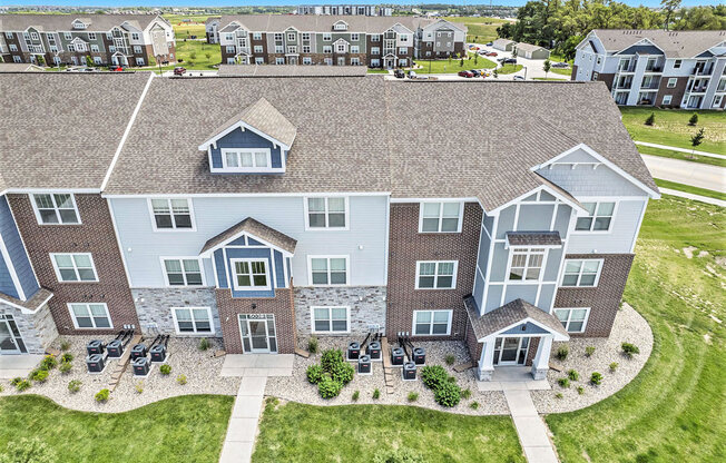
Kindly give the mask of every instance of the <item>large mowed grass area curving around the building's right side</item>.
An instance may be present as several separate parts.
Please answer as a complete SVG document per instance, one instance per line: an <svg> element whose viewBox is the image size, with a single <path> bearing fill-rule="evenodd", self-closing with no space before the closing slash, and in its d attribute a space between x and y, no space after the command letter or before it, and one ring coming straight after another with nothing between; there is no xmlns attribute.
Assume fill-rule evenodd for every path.
<svg viewBox="0 0 726 463"><path fill-rule="evenodd" d="M725 223L718 206L650 203L625 299L650 324L654 351L614 396L547 416L563 463L726 461Z"/></svg>

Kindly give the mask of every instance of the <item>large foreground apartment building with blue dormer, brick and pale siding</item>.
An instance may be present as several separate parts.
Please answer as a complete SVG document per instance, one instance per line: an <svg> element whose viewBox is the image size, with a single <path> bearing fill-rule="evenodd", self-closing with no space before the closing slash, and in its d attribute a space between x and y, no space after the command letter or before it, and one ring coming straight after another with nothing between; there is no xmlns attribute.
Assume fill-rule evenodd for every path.
<svg viewBox="0 0 726 463"><path fill-rule="evenodd" d="M482 380L504 365L541 377L553 341L609 335L659 196L600 82L66 77L0 75L0 89L40 89L0 115L0 353L125 325L228 353L406 332L464 342ZM43 173L99 127L33 105L62 91L84 111L89 88L125 91L87 115L118 142ZM199 101L212 109L189 125ZM492 108L520 136L469 137ZM31 148L21 115L46 118L52 142Z"/></svg>

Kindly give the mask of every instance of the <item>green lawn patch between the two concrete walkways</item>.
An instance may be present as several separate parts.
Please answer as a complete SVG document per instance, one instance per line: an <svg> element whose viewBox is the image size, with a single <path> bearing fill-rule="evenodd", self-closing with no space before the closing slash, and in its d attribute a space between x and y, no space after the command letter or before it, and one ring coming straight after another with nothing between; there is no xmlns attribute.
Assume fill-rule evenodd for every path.
<svg viewBox="0 0 726 463"><path fill-rule="evenodd" d="M345 394L351 394L346 391ZM463 416L414 406L266 405L255 463L370 462L408 447L422 461L524 462L509 416Z"/></svg>

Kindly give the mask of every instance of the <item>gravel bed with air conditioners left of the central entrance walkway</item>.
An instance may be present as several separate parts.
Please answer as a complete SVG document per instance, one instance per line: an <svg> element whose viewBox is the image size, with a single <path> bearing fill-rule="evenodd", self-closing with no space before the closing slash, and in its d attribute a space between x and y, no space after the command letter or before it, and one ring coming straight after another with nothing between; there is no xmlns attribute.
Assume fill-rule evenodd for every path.
<svg viewBox="0 0 726 463"><path fill-rule="evenodd" d="M62 406L73 410L91 412L124 412L139 406L157 402L163 398L187 394L223 394L236 395L239 387L238 377L220 377L219 372L224 357L214 358L215 349L220 348L220 339L209 339L212 346L207 351L199 351L198 338L171 337L168 344L167 364L171 366L168 376L159 372L160 364L154 364L150 374L146 378L136 378L131 365L127 366L121 382L110 394L106 403L98 403L94 398L97 392L108 387L111 373L116 370L118 361L107 361L106 368L101 374L91 375L86 370L86 344L94 338L105 342L108 336L61 336L53 343L52 347L60 349L62 339L70 342L70 352L73 355L72 370L68 374L61 374L58 367L50 371L48 381L33 383L32 387L23 393L16 391L13 386L3 382L4 391L1 395L14 394L40 394L45 395ZM146 342L148 344L149 341ZM131 348L130 345L127 348ZM187 383L177 383L178 375L184 374ZM68 383L79 380L82 384L80 391L71 394L68 391ZM143 392L138 393L136 386L140 385Z"/></svg>

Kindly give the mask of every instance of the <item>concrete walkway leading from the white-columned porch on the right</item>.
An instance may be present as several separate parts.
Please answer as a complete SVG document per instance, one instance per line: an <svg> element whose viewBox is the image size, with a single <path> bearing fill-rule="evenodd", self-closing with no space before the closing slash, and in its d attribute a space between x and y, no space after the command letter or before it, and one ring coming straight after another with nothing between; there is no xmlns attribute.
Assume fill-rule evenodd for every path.
<svg viewBox="0 0 726 463"><path fill-rule="evenodd" d="M529 391L504 390L507 405L512 414L519 442L529 463L558 463L555 446L549 439L547 424L537 413Z"/></svg>

